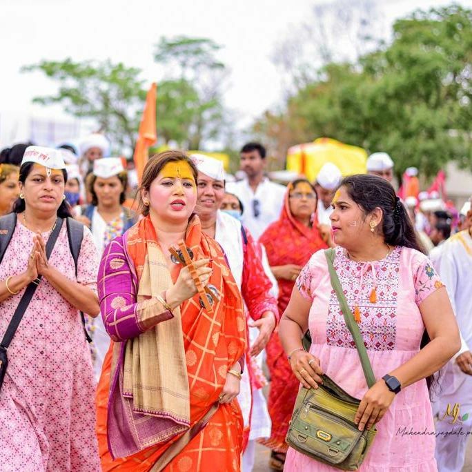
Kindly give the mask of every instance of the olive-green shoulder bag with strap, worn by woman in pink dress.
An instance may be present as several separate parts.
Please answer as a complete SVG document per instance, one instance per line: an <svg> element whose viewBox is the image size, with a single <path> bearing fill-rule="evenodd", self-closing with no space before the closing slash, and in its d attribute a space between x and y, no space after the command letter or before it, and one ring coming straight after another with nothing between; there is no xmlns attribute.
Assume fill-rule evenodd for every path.
<svg viewBox="0 0 472 472"><path fill-rule="evenodd" d="M371 362L366 346L355 322L340 279L333 266L335 250L324 251L331 285L340 302L344 321L353 336L359 353L362 370L370 388L375 384ZM322 375L323 384L318 389L302 387L297 395L286 442L302 454L343 471L356 471L371 447L377 429L359 431L354 422L360 400L351 397L327 375Z"/></svg>

